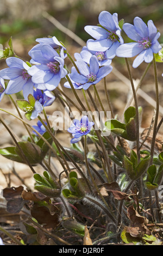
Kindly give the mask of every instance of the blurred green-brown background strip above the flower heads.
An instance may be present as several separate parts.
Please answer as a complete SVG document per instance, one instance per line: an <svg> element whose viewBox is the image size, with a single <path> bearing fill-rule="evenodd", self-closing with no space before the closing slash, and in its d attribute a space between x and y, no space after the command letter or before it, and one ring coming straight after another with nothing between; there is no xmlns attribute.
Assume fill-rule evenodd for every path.
<svg viewBox="0 0 163 256"><path fill-rule="evenodd" d="M86 25L96 25L98 15L106 10L118 13L118 19L132 23L135 16L145 22L152 19L162 34L163 42L163 2L162 0L1 0L0 1L0 44L7 43L12 36L17 54L27 56L35 39L55 35L65 44L75 41L55 27L45 17L52 15L61 25L71 29L84 41L90 36L84 31Z"/></svg>

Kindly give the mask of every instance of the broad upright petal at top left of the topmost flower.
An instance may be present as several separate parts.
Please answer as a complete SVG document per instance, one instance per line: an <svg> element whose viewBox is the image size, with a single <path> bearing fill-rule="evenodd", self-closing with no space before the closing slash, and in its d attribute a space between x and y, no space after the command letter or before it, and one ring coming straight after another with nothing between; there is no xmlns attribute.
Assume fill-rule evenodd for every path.
<svg viewBox="0 0 163 256"><path fill-rule="evenodd" d="M108 11L102 11L98 16L98 21L104 28L116 31L114 19L112 19L112 15Z"/></svg>

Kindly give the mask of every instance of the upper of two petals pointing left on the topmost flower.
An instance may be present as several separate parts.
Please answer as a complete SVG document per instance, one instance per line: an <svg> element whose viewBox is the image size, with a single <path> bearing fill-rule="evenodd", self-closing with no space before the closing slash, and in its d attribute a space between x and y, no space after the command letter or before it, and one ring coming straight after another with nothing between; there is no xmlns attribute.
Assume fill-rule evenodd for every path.
<svg viewBox="0 0 163 256"><path fill-rule="evenodd" d="M105 39L108 37L108 32L101 27L98 26L85 26L85 31L97 40Z"/></svg>

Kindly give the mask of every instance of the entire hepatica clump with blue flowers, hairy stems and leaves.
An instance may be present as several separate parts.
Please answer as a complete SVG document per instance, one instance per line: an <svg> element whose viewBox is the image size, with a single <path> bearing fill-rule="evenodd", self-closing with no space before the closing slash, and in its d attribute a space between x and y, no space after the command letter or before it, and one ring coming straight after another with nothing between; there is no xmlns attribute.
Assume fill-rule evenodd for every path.
<svg viewBox="0 0 163 256"><path fill-rule="evenodd" d="M98 21L97 26L85 26L93 39L74 53L75 60L55 36L37 38L29 51L29 61L14 53L11 39L9 51L3 52L8 67L0 70L0 101L8 96L17 115L8 109L0 111L22 122L27 135L17 138L10 123L0 115L0 125L14 141L0 149L0 154L8 161L26 164L35 181L32 189L26 190L23 184L3 190L7 211L21 215L23 210L23 215L27 214L21 219L21 232L16 237L0 226L14 244L87 245L89 240L89 245L162 245L162 234L154 234L157 224L163 221L159 193L163 152L156 149L155 143L163 122L163 118L158 122L156 67L156 62L163 62L160 33L152 20L146 25L140 17L135 17L131 25L123 19L118 21L117 13L102 11ZM131 42L124 42L122 31ZM156 110L145 138L140 135L143 108L137 101L128 60L135 56L133 68L143 61L148 63L137 88L152 62L154 67ZM134 100L132 106L127 103L121 119L114 114L108 93L114 57L126 61L133 92L128 102ZM71 61L70 69L67 59ZM106 103L98 89L104 92ZM48 113L54 111L54 101L55 124ZM62 107L65 115L60 111ZM58 138L64 128L67 147ZM147 219L156 229L149 229ZM6 237L3 241L0 237L0 245L4 241Z"/></svg>

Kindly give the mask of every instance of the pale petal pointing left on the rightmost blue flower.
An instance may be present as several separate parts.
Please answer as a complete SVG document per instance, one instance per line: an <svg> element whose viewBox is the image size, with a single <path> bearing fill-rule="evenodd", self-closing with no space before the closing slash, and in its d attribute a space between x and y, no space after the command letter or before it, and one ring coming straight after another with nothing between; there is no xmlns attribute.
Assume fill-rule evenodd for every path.
<svg viewBox="0 0 163 256"><path fill-rule="evenodd" d="M131 58L142 52L138 42L128 42L127 44L120 45L116 50L116 56Z"/></svg>

